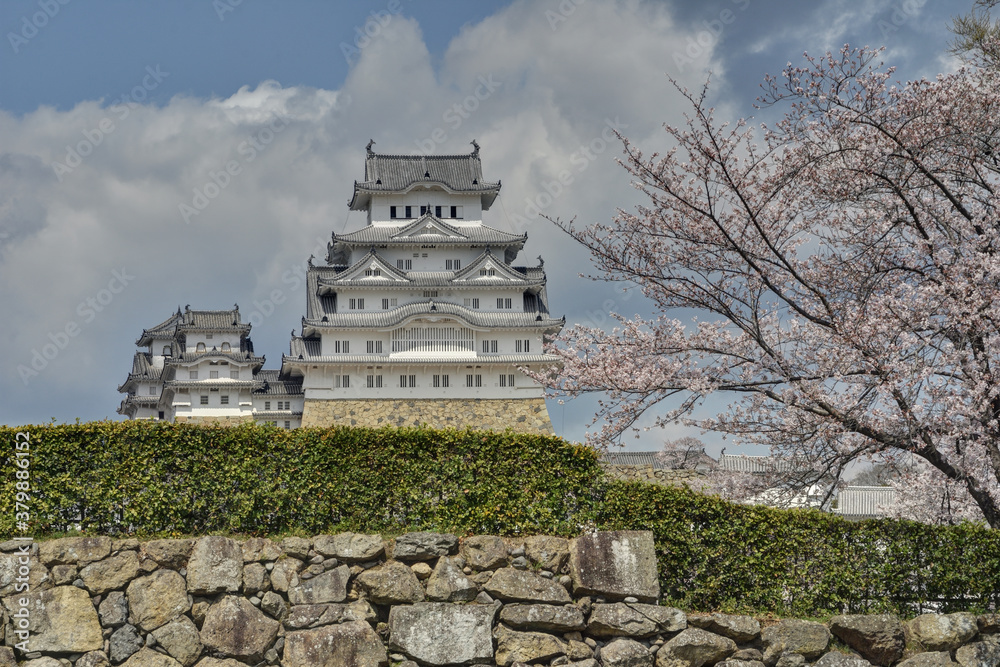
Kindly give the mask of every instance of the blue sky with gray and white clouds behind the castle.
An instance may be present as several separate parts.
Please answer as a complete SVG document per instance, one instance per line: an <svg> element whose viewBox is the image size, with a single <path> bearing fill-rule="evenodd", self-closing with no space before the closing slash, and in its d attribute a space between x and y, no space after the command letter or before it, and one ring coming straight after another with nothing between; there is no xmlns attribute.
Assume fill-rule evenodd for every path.
<svg viewBox="0 0 1000 667"><path fill-rule="evenodd" d="M711 73L717 115L735 119L754 113L766 73L844 43L884 45L900 79L933 77L957 66L947 25L967 4L4 2L0 421L118 418L136 337L178 305L256 313L256 349L277 368L304 312L292 277L331 231L362 222L346 202L369 138L438 154L477 139L504 183L487 224L528 233L519 259L545 258L554 312L599 326L610 311L648 314L579 277L586 254L535 215L597 222L639 202L610 128L662 150L662 124L685 111L668 77L698 87ZM275 117L283 131L246 160L239 147ZM242 175L185 219L180 205L234 158ZM25 377L53 340L65 345ZM594 402L550 411L580 439Z"/></svg>

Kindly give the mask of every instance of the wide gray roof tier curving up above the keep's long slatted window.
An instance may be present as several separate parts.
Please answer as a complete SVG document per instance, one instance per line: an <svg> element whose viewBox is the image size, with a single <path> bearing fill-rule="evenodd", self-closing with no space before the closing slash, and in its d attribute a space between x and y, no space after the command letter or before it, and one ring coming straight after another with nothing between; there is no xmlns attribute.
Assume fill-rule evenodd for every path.
<svg viewBox="0 0 1000 667"><path fill-rule="evenodd" d="M314 328L389 328L402 324L415 315L453 315L475 327L496 329L545 329L558 331L566 323L565 318L554 319L543 313L491 312L472 310L445 301L420 301L408 303L392 310L376 312L347 312L325 315L320 319L303 320L303 327Z"/></svg>

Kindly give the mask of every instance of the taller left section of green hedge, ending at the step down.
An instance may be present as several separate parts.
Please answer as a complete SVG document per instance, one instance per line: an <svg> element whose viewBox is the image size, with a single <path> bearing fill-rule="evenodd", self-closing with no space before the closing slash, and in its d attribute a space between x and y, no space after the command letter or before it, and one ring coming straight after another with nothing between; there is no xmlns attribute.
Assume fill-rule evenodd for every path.
<svg viewBox="0 0 1000 667"><path fill-rule="evenodd" d="M511 432L92 422L0 431L5 507L17 430L31 434L35 534L569 534L600 474L587 448ZM0 515L0 534L14 528Z"/></svg>

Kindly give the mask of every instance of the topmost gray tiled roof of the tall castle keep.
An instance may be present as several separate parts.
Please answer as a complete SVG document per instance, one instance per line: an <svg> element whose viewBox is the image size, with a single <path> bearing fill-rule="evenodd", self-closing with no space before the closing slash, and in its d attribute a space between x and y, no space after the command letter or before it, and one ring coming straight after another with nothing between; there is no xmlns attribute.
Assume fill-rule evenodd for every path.
<svg viewBox="0 0 1000 667"><path fill-rule="evenodd" d="M500 192L500 181L483 179L479 145L467 155L380 155L368 144L365 179L354 182L352 210L368 208L372 194L403 193L416 185L438 185L449 192L482 195L483 210L493 205Z"/></svg>

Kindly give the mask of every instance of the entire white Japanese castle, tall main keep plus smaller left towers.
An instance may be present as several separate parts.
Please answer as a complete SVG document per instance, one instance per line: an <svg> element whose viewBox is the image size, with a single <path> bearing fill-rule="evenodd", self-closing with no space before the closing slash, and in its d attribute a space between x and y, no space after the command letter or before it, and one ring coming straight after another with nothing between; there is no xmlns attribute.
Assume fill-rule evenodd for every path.
<svg viewBox="0 0 1000 667"><path fill-rule="evenodd" d="M556 358L545 272L514 266L526 234L483 222L500 182L465 155L367 147L349 203L366 224L309 261L306 314L280 371L261 370L239 309L178 312L143 331L119 412L278 426L512 428L552 433L544 390L521 369ZM226 347L223 348L222 346ZM225 400L223 400L225 398Z"/></svg>

